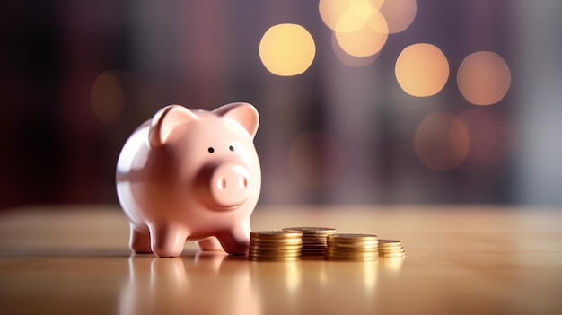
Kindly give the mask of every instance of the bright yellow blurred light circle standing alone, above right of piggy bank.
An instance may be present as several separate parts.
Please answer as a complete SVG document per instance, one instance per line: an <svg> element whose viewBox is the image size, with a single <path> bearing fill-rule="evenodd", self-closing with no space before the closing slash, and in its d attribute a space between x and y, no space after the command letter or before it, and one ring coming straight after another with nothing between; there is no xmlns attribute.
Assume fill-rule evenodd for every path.
<svg viewBox="0 0 562 315"><path fill-rule="evenodd" d="M301 25L277 24L259 42L261 62L272 74L302 74L312 64L316 46L311 34Z"/></svg>

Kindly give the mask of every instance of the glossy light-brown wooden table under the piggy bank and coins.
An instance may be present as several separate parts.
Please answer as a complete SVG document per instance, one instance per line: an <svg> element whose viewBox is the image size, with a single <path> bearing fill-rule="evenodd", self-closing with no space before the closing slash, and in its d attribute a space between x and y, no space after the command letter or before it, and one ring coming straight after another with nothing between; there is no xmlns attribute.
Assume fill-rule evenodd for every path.
<svg viewBox="0 0 562 315"><path fill-rule="evenodd" d="M562 209L259 206L252 229L399 239L406 258L131 256L117 206L0 213L1 314L562 314Z"/></svg>

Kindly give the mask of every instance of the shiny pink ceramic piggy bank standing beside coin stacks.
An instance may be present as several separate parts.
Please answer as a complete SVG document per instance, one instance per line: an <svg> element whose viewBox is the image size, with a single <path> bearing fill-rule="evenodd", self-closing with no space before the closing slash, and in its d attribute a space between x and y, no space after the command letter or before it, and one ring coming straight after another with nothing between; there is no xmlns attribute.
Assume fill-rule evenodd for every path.
<svg viewBox="0 0 562 315"><path fill-rule="evenodd" d="M117 163L129 247L177 257L200 249L246 254L261 171L253 145L258 111L231 103L213 111L160 109L127 139Z"/></svg>

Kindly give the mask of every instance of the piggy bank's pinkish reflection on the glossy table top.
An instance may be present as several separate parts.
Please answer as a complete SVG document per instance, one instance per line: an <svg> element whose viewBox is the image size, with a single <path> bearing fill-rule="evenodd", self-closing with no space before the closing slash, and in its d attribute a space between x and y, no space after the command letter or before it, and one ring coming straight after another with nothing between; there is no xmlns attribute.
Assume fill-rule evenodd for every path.
<svg viewBox="0 0 562 315"><path fill-rule="evenodd" d="M119 315L262 314L259 292L243 257L200 252L180 258L128 259Z"/></svg>

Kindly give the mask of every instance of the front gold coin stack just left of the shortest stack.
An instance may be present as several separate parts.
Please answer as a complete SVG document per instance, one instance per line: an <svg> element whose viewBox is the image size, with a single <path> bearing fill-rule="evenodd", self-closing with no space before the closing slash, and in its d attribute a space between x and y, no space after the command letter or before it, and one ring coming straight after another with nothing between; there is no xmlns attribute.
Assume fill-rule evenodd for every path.
<svg viewBox="0 0 562 315"><path fill-rule="evenodd" d="M329 260L372 261L379 257L379 239L373 234L333 234L326 244Z"/></svg>

